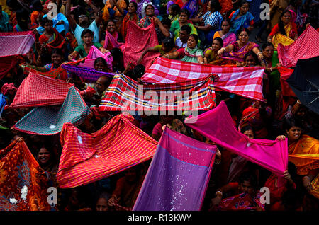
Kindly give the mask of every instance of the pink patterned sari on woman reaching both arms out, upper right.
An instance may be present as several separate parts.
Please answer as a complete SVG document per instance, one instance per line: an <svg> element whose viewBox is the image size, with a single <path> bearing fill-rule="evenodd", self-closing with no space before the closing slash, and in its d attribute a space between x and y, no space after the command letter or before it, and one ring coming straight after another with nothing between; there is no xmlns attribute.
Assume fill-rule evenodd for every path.
<svg viewBox="0 0 319 225"><path fill-rule="evenodd" d="M220 58L244 62L245 54L250 52L254 47L259 47L259 45L257 45L256 43L250 41L248 41L247 44L241 48L239 47L237 41L231 43L230 45L234 46L233 51L224 52L223 56L221 56Z"/></svg>

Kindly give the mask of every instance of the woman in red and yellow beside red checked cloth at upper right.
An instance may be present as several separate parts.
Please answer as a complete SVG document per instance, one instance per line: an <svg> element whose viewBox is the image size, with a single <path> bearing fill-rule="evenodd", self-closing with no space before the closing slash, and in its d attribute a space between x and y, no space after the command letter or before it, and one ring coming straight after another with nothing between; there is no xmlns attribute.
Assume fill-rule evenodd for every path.
<svg viewBox="0 0 319 225"><path fill-rule="evenodd" d="M274 44L276 49L278 44L291 45L298 38L296 23L291 22L291 11L285 10L281 13L280 21L277 23L272 32L268 35L268 42Z"/></svg>

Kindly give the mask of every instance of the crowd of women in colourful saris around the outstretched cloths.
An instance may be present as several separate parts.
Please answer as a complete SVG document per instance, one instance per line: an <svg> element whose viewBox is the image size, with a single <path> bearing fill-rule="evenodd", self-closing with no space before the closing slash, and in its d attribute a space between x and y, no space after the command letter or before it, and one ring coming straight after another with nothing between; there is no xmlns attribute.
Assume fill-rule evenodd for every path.
<svg viewBox="0 0 319 225"><path fill-rule="evenodd" d="M17 88L26 74L23 68L53 71L65 62L84 59L94 46L113 57L111 67L102 57L94 62L96 71L125 74L140 81L145 67L140 64L147 52L184 62L223 67L264 67L265 102L250 100L233 93L216 92L216 100L228 105L236 127L250 139L288 139L289 155L311 155L312 158L289 158L284 185L277 176L247 159L218 146L203 210L279 210L308 211L319 207L318 115L308 110L293 96L283 96L278 55L279 43L289 45L309 25L318 28L318 1L269 0L253 1L270 5L269 20L259 18L259 7L252 1L232 0L6 0L1 1L0 31L32 30L35 45L22 56L20 65L1 79L1 93L12 103ZM57 16L49 15L52 4ZM256 9L258 8L258 9ZM313 10L317 8L317 10ZM254 15L254 16L253 16ZM257 17L256 17L257 15ZM152 23L159 45L142 51L137 62L123 61L121 46L128 34L128 22L140 28ZM251 33L257 31L252 37ZM317 43L318 44L318 43ZM22 79L21 79L22 77ZM83 91L95 88L96 94L84 96L88 105L99 106L111 83L101 77L96 83L84 83L76 76L61 73L65 80ZM89 90L89 89L88 89ZM89 93L89 92L88 92ZM58 188L55 175L62 152L59 134L51 136L18 132L12 127L28 110L4 110L1 115L1 149L23 138L38 163ZM116 115L100 113L79 127L95 132ZM135 117L140 129L157 141L168 126L189 137L211 143L184 125L182 116ZM211 143L214 144L214 143ZM58 189L60 211L131 210L150 161L89 185L68 190ZM259 202L259 188L270 190L269 204Z"/></svg>

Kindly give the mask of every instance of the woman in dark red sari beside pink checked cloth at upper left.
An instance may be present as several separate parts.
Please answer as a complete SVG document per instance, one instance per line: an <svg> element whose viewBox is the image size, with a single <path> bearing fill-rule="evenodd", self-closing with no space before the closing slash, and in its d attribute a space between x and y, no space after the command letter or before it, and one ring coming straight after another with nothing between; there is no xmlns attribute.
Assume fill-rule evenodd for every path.
<svg viewBox="0 0 319 225"><path fill-rule="evenodd" d="M39 37L39 44L41 52L51 52L55 48L65 47L65 38L53 28L53 21L49 18L43 18L41 22L45 32Z"/></svg>

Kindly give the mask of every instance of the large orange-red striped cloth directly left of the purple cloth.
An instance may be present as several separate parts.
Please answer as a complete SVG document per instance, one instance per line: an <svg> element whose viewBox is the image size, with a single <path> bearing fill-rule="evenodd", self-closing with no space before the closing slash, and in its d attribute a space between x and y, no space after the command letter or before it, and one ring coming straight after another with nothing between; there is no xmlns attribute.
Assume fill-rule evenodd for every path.
<svg viewBox="0 0 319 225"><path fill-rule="evenodd" d="M158 143L133 120L131 115L117 115L92 134L65 123L60 136L59 187L86 185L152 158Z"/></svg>

